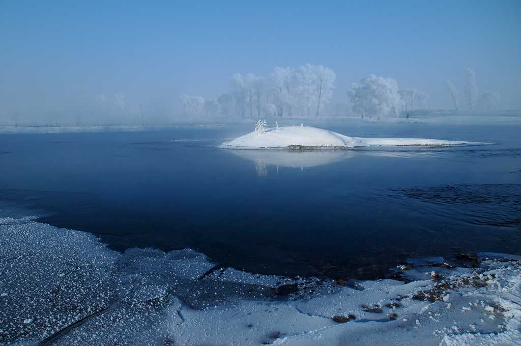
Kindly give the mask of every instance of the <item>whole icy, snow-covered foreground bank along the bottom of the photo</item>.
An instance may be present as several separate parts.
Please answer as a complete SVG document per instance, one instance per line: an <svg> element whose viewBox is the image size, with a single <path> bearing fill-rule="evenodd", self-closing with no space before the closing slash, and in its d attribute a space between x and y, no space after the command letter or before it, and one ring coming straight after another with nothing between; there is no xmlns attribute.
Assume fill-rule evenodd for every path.
<svg viewBox="0 0 521 346"><path fill-rule="evenodd" d="M518 257L414 261L396 268L408 283L346 283L239 272L189 249L121 254L31 217L0 218L0 244L0 344L521 342Z"/></svg>

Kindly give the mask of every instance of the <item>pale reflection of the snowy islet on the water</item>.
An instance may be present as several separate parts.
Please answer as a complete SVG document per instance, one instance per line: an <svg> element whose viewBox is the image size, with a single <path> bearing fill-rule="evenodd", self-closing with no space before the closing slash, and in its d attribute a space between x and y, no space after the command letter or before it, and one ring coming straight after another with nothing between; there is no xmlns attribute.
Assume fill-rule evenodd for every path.
<svg viewBox="0 0 521 346"><path fill-rule="evenodd" d="M268 174L267 166L309 168L353 157L353 150L229 150L255 162L259 176Z"/></svg>

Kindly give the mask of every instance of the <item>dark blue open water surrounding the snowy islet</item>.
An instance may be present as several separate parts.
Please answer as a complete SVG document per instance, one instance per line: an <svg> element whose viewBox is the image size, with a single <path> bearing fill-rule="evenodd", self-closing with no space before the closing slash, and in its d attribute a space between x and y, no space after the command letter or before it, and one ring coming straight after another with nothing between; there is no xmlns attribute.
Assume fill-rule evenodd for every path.
<svg viewBox="0 0 521 346"><path fill-rule="evenodd" d="M190 247L258 273L381 278L410 256L521 254L521 126L326 128L488 144L215 148L249 127L1 135L0 204L119 251Z"/></svg>

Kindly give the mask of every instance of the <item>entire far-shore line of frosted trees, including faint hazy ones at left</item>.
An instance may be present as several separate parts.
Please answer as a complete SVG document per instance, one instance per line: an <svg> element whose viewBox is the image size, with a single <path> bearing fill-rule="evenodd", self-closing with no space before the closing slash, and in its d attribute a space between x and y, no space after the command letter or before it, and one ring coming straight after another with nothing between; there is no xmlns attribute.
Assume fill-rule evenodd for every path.
<svg viewBox="0 0 521 346"><path fill-rule="evenodd" d="M297 69L276 67L267 79L253 73L235 73L230 78L229 93L208 100L201 96L181 95L177 103L185 117L318 117L331 99L335 79L336 74L331 69L309 63ZM450 80L445 80L443 85L454 110L460 111L460 91ZM374 74L353 83L347 96L349 102L340 102L329 108L330 115L398 117L401 112L427 109L429 98L428 94L417 89L399 89L396 80ZM464 102L468 110L490 110L497 106L499 98L495 91L479 94L475 72L465 70ZM139 125L140 111L128 110L122 93L115 94L111 101L100 94L93 101L96 106L86 112L79 109L72 113L49 110L29 119L13 111L4 118L11 125ZM142 118L141 115L141 121Z"/></svg>

